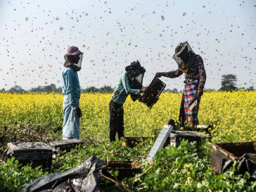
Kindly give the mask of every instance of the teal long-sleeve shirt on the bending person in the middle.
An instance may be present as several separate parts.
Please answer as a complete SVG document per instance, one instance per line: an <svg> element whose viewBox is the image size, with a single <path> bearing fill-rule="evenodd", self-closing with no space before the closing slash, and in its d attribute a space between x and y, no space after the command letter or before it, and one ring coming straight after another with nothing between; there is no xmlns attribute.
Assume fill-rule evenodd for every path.
<svg viewBox="0 0 256 192"><path fill-rule="evenodd" d="M116 89L114 90L111 100L120 105L123 105L124 102L126 101L126 97L129 94L140 95L140 90L139 89L131 89L130 84L128 82L127 75L123 74L118 81L118 84L116 86Z"/></svg>

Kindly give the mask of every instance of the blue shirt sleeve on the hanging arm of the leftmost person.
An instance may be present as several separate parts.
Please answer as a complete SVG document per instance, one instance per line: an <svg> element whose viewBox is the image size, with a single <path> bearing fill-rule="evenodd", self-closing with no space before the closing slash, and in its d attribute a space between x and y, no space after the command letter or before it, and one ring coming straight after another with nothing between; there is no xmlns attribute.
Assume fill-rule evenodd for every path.
<svg viewBox="0 0 256 192"><path fill-rule="evenodd" d="M74 80L75 71L73 69L66 70L64 74L65 84L66 84L66 95L69 97L69 103L73 106L73 109L76 110L79 108L79 103L74 95Z"/></svg>

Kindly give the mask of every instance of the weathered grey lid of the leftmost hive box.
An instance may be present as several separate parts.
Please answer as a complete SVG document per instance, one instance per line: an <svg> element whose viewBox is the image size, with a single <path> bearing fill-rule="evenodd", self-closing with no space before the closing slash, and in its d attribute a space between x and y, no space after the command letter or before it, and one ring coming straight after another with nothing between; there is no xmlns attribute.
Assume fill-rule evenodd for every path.
<svg viewBox="0 0 256 192"><path fill-rule="evenodd" d="M7 143L7 147L12 154L52 153L52 148L43 142L13 142Z"/></svg>

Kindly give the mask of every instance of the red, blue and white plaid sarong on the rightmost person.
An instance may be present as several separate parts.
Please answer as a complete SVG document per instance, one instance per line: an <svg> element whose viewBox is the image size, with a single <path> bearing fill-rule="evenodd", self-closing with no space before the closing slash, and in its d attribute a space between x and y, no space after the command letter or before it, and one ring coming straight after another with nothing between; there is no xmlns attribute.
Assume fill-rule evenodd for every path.
<svg viewBox="0 0 256 192"><path fill-rule="evenodd" d="M184 125L187 125L187 126L196 126L199 124L197 114L199 110L199 103L200 103L201 97L197 98L197 105L195 105L192 108L192 110L188 108L188 105L196 97L197 90L198 90L198 80L194 80L192 82L187 83L183 90L179 118L181 123L184 123Z"/></svg>

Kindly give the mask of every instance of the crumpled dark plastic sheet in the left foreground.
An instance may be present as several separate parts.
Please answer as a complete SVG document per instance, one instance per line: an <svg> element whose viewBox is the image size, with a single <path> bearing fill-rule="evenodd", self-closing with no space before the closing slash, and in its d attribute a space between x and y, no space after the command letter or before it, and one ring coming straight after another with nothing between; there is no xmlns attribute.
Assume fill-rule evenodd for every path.
<svg viewBox="0 0 256 192"><path fill-rule="evenodd" d="M56 172L36 179L19 192L94 192L100 190L105 161L90 156L83 164L64 173Z"/></svg>

